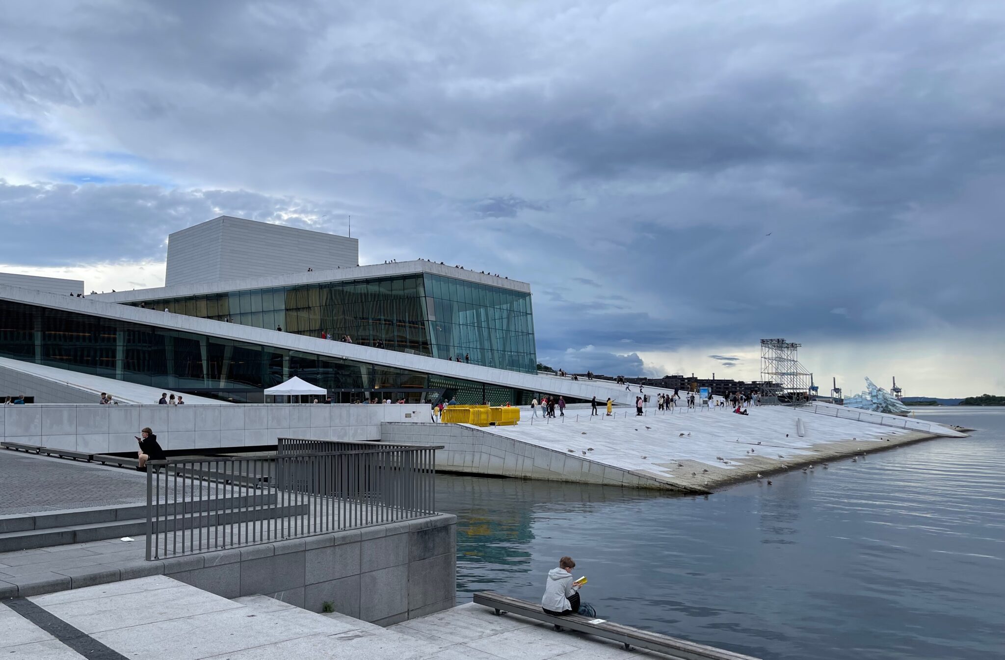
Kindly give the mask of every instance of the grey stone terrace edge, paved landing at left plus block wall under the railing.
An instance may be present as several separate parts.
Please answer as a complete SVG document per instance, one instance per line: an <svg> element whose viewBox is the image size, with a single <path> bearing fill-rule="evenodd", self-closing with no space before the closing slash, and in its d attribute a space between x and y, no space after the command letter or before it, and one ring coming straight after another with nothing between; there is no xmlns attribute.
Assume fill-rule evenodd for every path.
<svg viewBox="0 0 1005 660"><path fill-rule="evenodd" d="M261 594L316 612L331 602L336 612L391 625L453 607L456 522L438 514L152 562L141 559L142 542L22 551L0 556L21 574L0 579L0 598L163 574L228 599Z"/></svg>

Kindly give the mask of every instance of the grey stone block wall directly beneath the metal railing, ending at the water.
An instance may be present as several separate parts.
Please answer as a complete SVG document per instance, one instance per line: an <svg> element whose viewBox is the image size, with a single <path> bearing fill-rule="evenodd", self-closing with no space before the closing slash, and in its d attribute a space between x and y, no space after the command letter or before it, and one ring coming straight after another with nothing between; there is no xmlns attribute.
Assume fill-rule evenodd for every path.
<svg viewBox="0 0 1005 660"><path fill-rule="evenodd" d="M312 612L330 602L390 626L454 606L456 531L457 517L440 514L144 564L224 598L263 594Z"/></svg>

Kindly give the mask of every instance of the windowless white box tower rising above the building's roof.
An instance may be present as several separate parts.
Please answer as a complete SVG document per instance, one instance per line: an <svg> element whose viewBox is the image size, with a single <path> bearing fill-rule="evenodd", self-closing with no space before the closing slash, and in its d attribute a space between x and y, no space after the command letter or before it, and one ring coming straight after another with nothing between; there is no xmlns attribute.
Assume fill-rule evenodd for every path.
<svg viewBox="0 0 1005 660"><path fill-rule="evenodd" d="M220 216L168 237L165 285L355 267L359 254L356 238Z"/></svg>

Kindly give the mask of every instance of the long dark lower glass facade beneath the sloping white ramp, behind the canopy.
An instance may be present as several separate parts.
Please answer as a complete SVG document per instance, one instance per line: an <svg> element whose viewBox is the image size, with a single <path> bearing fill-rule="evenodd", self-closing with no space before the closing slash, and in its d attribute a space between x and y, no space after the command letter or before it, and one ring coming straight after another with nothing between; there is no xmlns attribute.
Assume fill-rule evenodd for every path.
<svg viewBox="0 0 1005 660"><path fill-rule="evenodd" d="M292 376L328 389L336 403L455 398L520 405L532 398L512 388L8 300L0 300L0 356L235 402L260 402L264 388Z"/></svg>

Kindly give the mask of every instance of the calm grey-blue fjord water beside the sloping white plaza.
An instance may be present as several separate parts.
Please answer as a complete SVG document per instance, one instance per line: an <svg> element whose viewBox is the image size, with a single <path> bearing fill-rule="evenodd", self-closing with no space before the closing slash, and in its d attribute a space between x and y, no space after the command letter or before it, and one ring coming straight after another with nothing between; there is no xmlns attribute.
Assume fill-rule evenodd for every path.
<svg viewBox="0 0 1005 660"><path fill-rule="evenodd" d="M978 430L707 497L441 475L458 600L571 555L598 616L762 658L1003 657L1005 408L917 414Z"/></svg>

